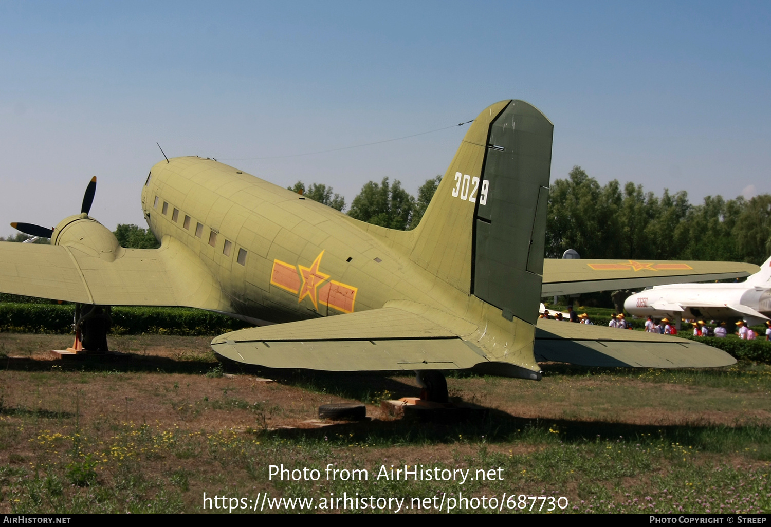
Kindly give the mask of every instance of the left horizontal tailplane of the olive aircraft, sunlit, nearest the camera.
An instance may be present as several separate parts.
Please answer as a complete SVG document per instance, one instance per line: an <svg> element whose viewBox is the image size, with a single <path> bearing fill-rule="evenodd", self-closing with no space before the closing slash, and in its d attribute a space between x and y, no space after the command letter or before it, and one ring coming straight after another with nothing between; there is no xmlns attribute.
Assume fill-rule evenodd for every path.
<svg viewBox="0 0 771 527"><path fill-rule="evenodd" d="M211 347L268 368L449 370L489 362L453 331L396 307L231 331Z"/></svg>

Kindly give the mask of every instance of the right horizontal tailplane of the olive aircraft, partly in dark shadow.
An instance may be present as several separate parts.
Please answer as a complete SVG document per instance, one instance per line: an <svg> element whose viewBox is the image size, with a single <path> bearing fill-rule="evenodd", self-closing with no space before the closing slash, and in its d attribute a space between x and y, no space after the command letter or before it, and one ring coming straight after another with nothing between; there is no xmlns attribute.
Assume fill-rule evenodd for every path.
<svg viewBox="0 0 771 527"><path fill-rule="evenodd" d="M581 366L633 368L716 368L735 364L725 351L684 338L613 327L539 319L537 361Z"/></svg>

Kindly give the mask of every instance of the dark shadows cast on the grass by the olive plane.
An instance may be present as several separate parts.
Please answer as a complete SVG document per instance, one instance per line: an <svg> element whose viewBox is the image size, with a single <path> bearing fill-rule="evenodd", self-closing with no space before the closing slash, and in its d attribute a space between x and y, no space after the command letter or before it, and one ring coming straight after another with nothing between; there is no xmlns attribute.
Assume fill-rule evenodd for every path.
<svg viewBox="0 0 771 527"><path fill-rule="evenodd" d="M29 361L8 360L6 369L14 371L50 371L52 366L60 366L62 370L99 372L143 373L157 372L177 374L206 374L216 363L197 361L175 361L167 357L136 356L133 361L126 362L67 362L59 360ZM233 364L230 365L233 371ZM227 369L227 368L226 368ZM552 373L562 375L584 376L588 371L597 373L596 368L581 368L570 364L550 364ZM608 372L615 368L608 368ZM258 375L271 378L296 388L321 392L355 401L373 401L379 395L402 397L415 395L419 388L393 378L395 372L354 372L333 373L311 370L277 370L268 368L244 367L242 374ZM716 375L722 372L715 371ZM378 393L372 392L372 387L378 387ZM0 404L0 415L16 415L44 419L72 418L74 414L66 411L50 411L42 408L15 408ZM512 415L497 408L487 408L484 418L467 421L436 421L418 422L410 419L397 418L392 421L358 421L342 422L323 428L279 428L258 431L276 438L311 439L325 441L337 435L344 436L346 441L359 441L371 444L391 445L395 441L399 445L420 445L426 442L453 444L459 435L471 444L485 442L489 444L511 441L540 441L549 437L553 431L565 444L586 444L592 441L641 441L651 444L658 438L680 444L694 445L705 448L706 445L719 439L712 438L721 428L730 428L732 437L748 435L768 435L769 427L758 425L715 425L709 421L700 421L698 416L689 422L675 425L662 425L656 422L631 424L608 420L584 420L570 418L523 418Z"/></svg>

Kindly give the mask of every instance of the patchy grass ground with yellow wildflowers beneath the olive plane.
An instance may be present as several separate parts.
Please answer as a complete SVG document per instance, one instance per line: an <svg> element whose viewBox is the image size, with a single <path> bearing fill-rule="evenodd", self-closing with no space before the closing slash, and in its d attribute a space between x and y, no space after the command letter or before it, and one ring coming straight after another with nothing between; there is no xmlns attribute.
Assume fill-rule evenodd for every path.
<svg viewBox="0 0 771 527"><path fill-rule="evenodd" d="M192 355L137 360L0 371L0 512L203 512L204 492L316 504L359 492L408 506L461 493L515 495L513 506L520 495L564 496L569 505L557 512L771 510L765 364L550 365L540 382L458 374L448 378L451 393L489 408L487 418L315 428L304 423L318 404L411 394L412 378L262 371L278 379L263 384L252 371L207 375L216 363ZM365 469L369 481L271 480L269 466L281 464L322 475L329 464ZM503 480L376 481L382 465L500 468Z"/></svg>

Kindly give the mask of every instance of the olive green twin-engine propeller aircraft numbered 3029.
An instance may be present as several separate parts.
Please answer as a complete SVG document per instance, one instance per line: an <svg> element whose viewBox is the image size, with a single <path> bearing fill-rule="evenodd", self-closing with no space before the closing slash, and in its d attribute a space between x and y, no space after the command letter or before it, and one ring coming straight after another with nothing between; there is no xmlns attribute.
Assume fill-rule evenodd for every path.
<svg viewBox="0 0 771 527"><path fill-rule="evenodd" d="M537 357L588 365L713 367L712 347L537 320L542 296L748 276L746 263L545 260L553 125L520 100L484 109L418 227L354 220L214 159L164 159L142 189L156 250L120 247L88 216L15 227L0 291L81 304L187 306L256 324L217 354L269 368L474 369L540 379ZM332 316L335 315L335 316Z"/></svg>

